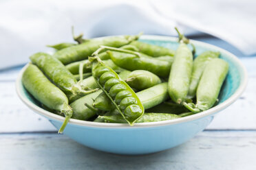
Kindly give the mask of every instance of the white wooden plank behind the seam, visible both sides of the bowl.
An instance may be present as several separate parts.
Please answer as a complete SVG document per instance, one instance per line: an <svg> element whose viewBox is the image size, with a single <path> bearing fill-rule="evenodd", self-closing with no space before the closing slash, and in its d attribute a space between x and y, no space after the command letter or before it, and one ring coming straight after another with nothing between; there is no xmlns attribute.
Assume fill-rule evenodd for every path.
<svg viewBox="0 0 256 170"><path fill-rule="evenodd" d="M235 103L217 114L211 130L256 130L256 58L241 58L249 75L246 91ZM6 72L6 71L4 71ZM47 119L33 113L17 97L14 77L19 69L0 72L0 132L41 132L55 131ZM6 79L3 78L6 76ZM2 81L1 81L2 79ZM10 80L10 81L9 81Z"/></svg>

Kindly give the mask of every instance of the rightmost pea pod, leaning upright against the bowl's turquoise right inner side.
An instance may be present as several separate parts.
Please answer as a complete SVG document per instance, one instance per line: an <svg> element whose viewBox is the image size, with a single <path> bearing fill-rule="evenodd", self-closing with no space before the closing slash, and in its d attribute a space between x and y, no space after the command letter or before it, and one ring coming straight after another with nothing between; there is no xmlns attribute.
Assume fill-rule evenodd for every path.
<svg viewBox="0 0 256 170"><path fill-rule="evenodd" d="M220 88L228 74L228 63L220 58L214 58L205 67L198 89L196 104L184 103L191 112L201 112L211 108L217 101Z"/></svg>

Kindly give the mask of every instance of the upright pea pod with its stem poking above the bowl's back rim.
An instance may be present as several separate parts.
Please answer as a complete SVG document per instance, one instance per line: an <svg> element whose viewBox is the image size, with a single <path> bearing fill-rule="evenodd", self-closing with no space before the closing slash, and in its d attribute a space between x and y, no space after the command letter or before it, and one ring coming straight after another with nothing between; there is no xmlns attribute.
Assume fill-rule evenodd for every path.
<svg viewBox="0 0 256 170"><path fill-rule="evenodd" d="M185 44L186 41L184 37L180 39L180 45L175 52L168 81L169 95L177 104L182 104L186 99L193 66L193 54Z"/></svg>

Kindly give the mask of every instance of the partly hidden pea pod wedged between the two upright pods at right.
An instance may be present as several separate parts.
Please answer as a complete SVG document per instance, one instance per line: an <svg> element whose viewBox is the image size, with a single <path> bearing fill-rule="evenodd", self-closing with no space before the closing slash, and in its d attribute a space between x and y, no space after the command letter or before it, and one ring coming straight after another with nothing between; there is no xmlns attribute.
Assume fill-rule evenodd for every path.
<svg viewBox="0 0 256 170"><path fill-rule="evenodd" d="M218 58L219 56L220 52L205 51L204 53L201 53L197 58L195 58L193 61L193 71L189 85L189 93L187 96L189 99L195 97L196 88L198 88L198 83L206 64L213 58Z"/></svg>

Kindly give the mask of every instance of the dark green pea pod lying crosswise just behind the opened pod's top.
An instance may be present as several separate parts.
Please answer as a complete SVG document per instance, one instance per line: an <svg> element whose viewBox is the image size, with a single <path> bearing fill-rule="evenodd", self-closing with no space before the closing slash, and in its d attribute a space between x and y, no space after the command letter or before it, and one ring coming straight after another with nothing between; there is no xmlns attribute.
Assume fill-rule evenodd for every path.
<svg viewBox="0 0 256 170"><path fill-rule="evenodd" d="M167 77L170 73L171 62L151 58L134 51L129 51L129 53L120 52L118 50L107 52L109 53L111 60L123 69L129 71L146 70L155 73L160 77Z"/></svg>

